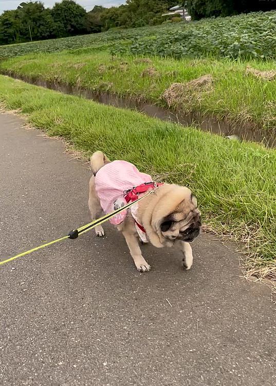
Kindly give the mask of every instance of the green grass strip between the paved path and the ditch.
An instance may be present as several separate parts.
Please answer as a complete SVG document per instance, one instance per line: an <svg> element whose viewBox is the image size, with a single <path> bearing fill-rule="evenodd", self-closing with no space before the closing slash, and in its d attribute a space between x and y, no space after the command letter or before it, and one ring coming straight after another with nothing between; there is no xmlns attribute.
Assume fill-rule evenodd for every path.
<svg viewBox="0 0 276 386"><path fill-rule="evenodd" d="M254 271L276 277L276 151L0 77L0 102L88 157L103 150L198 196L205 224L246 242ZM246 247L245 245L245 247Z"/></svg>

